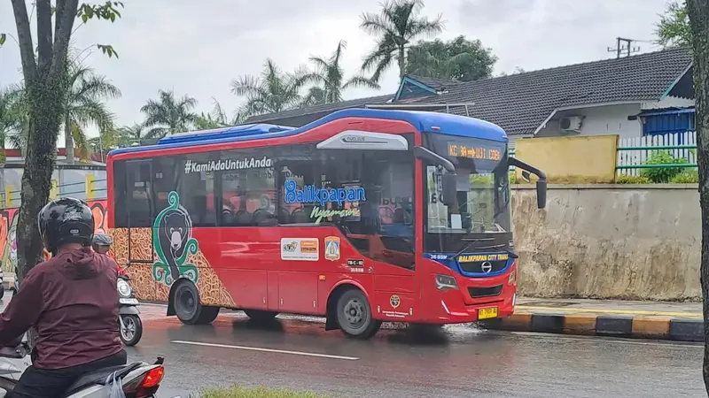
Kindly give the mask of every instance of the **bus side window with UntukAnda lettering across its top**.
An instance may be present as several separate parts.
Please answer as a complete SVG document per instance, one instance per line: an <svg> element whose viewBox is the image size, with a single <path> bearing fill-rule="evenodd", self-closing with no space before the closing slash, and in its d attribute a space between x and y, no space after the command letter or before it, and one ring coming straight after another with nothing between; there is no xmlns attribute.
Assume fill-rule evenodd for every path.
<svg viewBox="0 0 709 398"><path fill-rule="evenodd" d="M276 179L271 159L247 151L229 151L222 154L222 162L234 167L220 173L220 225L276 226Z"/></svg>

